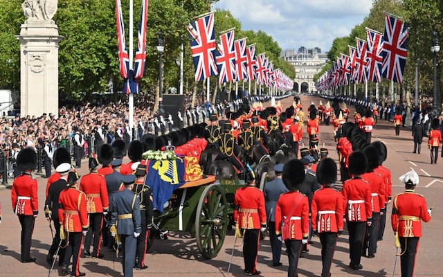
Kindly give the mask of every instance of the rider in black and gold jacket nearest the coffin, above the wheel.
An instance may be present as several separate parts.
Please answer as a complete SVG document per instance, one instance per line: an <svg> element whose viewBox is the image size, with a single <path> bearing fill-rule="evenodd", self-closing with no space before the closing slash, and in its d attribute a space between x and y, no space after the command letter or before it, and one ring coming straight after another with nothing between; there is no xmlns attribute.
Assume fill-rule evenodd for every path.
<svg viewBox="0 0 443 277"><path fill-rule="evenodd" d="M244 172L243 163L237 158L235 154L236 150L239 148L237 142L235 141L235 137L231 133L232 125L230 121L226 121L224 123L224 133L220 135L220 153L217 155L215 160L223 160L226 159L230 161L230 163L239 170L242 174Z"/></svg>

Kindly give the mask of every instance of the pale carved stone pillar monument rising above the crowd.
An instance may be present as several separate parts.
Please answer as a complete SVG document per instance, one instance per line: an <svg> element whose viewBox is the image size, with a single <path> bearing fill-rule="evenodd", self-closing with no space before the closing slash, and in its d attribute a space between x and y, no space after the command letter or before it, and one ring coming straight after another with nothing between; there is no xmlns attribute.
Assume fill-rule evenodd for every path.
<svg viewBox="0 0 443 277"><path fill-rule="evenodd" d="M58 35L52 20L57 0L24 0L26 21L21 24L20 80L21 116L58 116Z"/></svg>

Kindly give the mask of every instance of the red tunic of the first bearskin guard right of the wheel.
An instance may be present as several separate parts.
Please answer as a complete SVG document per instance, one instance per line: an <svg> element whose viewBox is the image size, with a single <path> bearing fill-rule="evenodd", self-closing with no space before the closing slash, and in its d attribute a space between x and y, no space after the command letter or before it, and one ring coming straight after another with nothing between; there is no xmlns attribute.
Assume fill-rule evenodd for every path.
<svg viewBox="0 0 443 277"><path fill-rule="evenodd" d="M294 209L294 205L296 205ZM291 213L291 211L293 211ZM291 213L291 215L289 215ZM282 220L289 219L289 234L282 234ZM283 240L302 240L309 234L309 202L298 191L283 193L275 206L275 234L282 234Z"/></svg>

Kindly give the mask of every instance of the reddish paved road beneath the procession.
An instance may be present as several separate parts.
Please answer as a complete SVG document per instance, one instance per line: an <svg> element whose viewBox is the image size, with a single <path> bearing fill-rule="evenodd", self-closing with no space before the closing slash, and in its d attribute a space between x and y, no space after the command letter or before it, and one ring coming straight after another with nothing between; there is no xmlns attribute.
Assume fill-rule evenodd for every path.
<svg viewBox="0 0 443 277"><path fill-rule="evenodd" d="M304 110L314 101L318 105L320 99L302 96ZM284 107L291 105L291 98L282 100ZM324 100L323 100L324 102ZM352 111L353 113L353 111ZM332 140L332 125L320 127L320 146L329 149L329 157L337 159L335 143ZM401 193L404 186L400 184L398 178L404 172L414 168L420 175L420 184L417 193L426 197L428 206L433 206L433 219L428 224L424 224L424 238L420 240L415 276L443 276L441 256L443 240L440 239L437 231L443 225L443 184L440 178L443 176L442 159L439 157L437 165L431 165L426 149L426 143L422 146L422 154L413 154L413 143L410 129L401 129L400 136L395 136L392 123L379 120L374 128L372 140L380 140L388 147L388 160L385 166L392 170L393 193ZM305 139L307 145L307 139ZM87 164L84 163L80 169L82 175L87 173ZM39 181L39 205L40 215L37 217L35 231L33 235L32 253L37 257L35 264L22 264L19 262L20 251L20 226L17 217L12 214L10 208L10 190L0 190L0 201L3 207L3 222L0 224L0 276L48 276L48 265L46 264L46 254L51 243L51 232L48 222L44 219L44 188L46 179L37 177ZM12 181L10 181L12 183ZM390 217L390 207L388 208ZM390 231L390 220L387 221L386 232L383 241L379 242L376 257L372 259L362 258L363 269L361 271L351 271L348 269L349 258L347 254L347 233L338 238L334 263L332 265L332 276L400 276L399 259L397 268L395 267L394 238ZM226 236L224 247L219 255L213 260L204 260L199 256L195 240L188 233L172 233L169 240L156 240L150 252L147 253L148 269L144 271L134 271L134 276L244 276L242 247L236 247L233 255L230 274L226 274L230 253L232 253L234 236ZM239 244L239 241L237 241ZM319 276L321 271L320 242L314 238L314 244L309 245L309 253L300 260L299 276ZM284 247L282 252L284 253ZM104 250L105 258L102 260L82 258L80 260L80 271L87 273L87 276L123 276L121 258L112 258L111 251ZM288 260L282 256L282 267L271 267L271 247L269 240L262 241L258 256L257 269L262 271L262 276L287 276ZM60 267L55 267L51 276L61 276L58 272Z"/></svg>

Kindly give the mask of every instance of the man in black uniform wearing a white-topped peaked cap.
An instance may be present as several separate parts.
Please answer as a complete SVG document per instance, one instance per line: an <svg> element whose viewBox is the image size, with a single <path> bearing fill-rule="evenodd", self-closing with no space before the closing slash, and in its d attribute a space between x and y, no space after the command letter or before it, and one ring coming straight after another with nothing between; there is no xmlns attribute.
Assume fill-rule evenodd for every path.
<svg viewBox="0 0 443 277"><path fill-rule="evenodd" d="M48 188L48 195L46 196L46 202L45 202L45 208L44 208L44 215L46 217L46 220L54 222L54 228L55 228L55 236L53 238L53 243L51 244L51 248L49 249L49 253L46 256L46 262L48 262L49 265L53 264L53 256L55 252L57 251L57 248L60 244L60 222L62 219L58 217L58 199L60 198L60 193L66 189L66 186L68 184L68 173L71 169L70 163L62 163L60 166L57 166L55 168L55 171L57 171L60 174L60 179L53 182L49 185ZM59 265L62 265L62 262L64 260L64 251L65 248L60 248L59 251Z"/></svg>

